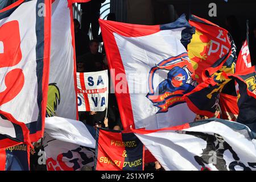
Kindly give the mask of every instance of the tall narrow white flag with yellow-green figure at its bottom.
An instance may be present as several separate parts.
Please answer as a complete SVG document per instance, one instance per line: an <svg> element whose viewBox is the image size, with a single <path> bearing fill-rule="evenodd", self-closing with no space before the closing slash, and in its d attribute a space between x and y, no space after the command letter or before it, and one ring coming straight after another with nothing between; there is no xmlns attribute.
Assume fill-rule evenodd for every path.
<svg viewBox="0 0 256 182"><path fill-rule="evenodd" d="M72 6L68 0L52 3L51 64L47 115L77 119L75 43Z"/></svg>

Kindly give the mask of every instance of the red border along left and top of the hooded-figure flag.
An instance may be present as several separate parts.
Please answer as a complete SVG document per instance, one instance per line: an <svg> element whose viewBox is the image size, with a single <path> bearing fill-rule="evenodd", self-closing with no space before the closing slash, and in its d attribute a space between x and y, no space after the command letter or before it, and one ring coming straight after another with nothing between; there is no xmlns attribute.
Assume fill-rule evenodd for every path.
<svg viewBox="0 0 256 182"><path fill-rule="evenodd" d="M99 22L101 26L102 38L104 39L104 47L109 63L110 74L112 76L113 83L117 85L119 81L115 80L115 76L118 74L126 73L125 68L123 67L117 43L115 42L114 33L126 37L146 36L159 32L160 26L150 26L150 28L148 28L149 26L145 25L119 23L102 19L99 19ZM112 70L114 70L114 72ZM127 80L123 80L123 82L127 82ZM115 96L117 98L117 104L121 116L123 129L129 130L130 126L135 128L133 109L131 106L128 86L127 93L115 93Z"/></svg>

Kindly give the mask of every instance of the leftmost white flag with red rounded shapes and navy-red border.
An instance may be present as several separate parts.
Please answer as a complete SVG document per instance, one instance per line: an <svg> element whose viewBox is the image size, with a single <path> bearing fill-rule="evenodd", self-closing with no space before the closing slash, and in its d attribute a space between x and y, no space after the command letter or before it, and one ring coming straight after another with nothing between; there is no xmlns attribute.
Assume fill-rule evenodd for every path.
<svg viewBox="0 0 256 182"><path fill-rule="evenodd" d="M17 1L0 10L1 148L43 137L50 13L51 3L44 0Z"/></svg>

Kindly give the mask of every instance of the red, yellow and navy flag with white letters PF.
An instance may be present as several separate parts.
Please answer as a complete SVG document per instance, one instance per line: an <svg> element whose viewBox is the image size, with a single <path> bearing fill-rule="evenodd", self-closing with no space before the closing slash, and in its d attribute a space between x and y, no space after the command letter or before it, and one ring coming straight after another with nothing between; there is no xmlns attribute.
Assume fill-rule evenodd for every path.
<svg viewBox="0 0 256 182"><path fill-rule="evenodd" d="M211 118L218 108L220 93L232 80L222 73L234 73L236 45L228 31L208 20L192 15L189 23L196 27L196 34L188 45L188 55L200 84L184 99L193 112Z"/></svg>

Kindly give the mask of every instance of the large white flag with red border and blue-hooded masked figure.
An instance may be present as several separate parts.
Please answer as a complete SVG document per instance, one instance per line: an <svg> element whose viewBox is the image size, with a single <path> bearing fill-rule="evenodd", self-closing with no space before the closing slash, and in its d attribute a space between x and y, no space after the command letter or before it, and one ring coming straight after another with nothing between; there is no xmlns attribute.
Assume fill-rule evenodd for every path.
<svg viewBox="0 0 256 182"><path fill-rule="evenodd" d="M185 16L156 26L99 21L123 128L193 121L181 98L195 88L185 49L194 29Z"/></svg>

